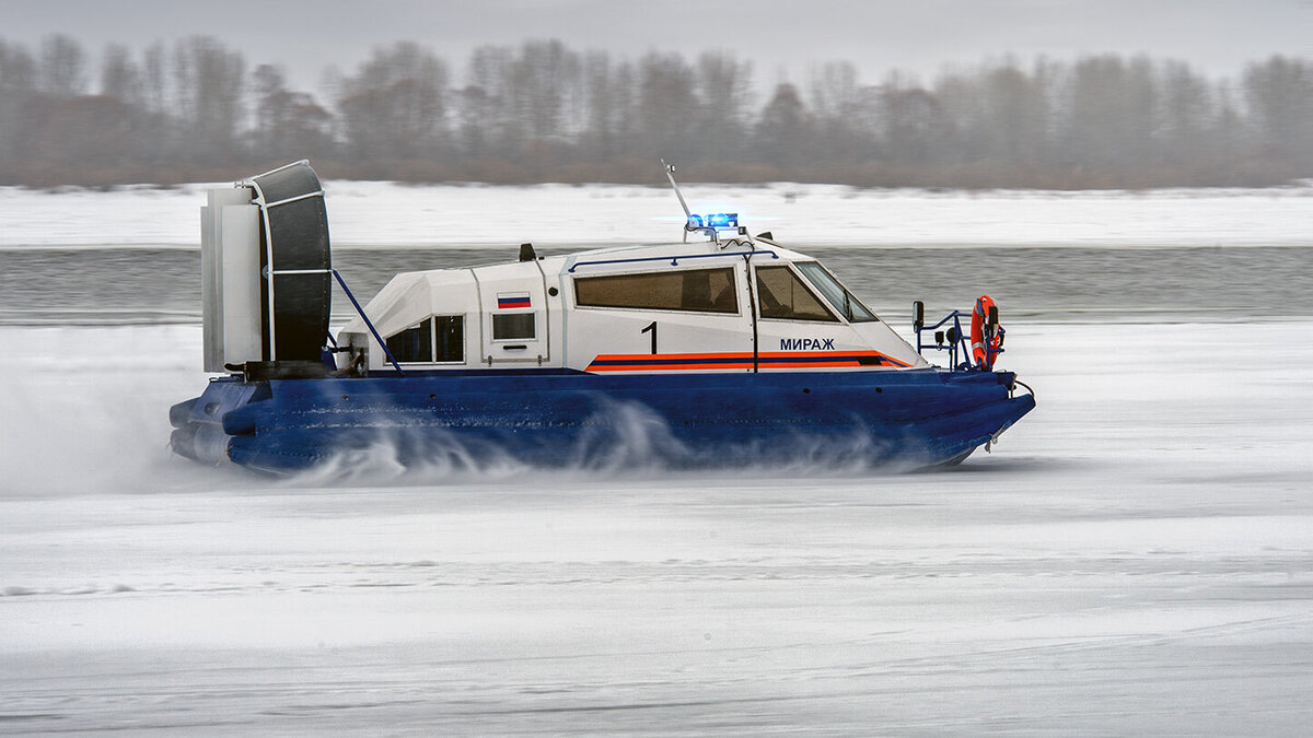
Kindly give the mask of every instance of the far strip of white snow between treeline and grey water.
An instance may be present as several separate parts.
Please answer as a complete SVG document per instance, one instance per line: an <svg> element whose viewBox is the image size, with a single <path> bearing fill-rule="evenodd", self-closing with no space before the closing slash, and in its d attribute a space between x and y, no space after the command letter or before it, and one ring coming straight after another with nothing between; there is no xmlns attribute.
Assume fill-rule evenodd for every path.
<svg viewBox="0 0 1313 738"><path fill-rule="evenodd" d="M209 186L228 185L58 196L0 188L0 248L194 248ZM324 190L339 248L659 243L679 238L684 221L664 186L327 181ZM684 190L696 213L734 211L752 232L813 246L1313 246L1313 183L1071 193L792 183Z"/></svg>

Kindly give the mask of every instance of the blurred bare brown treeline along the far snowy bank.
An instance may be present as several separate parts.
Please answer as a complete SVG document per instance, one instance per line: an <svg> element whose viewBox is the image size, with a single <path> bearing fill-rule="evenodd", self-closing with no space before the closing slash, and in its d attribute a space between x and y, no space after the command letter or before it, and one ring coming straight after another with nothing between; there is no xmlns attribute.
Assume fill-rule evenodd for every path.
<svg viewBox="0 0 1313 738"><path fill-rule="evenodd" d="M475 50L460 74L412 42L326 72L323 97L210 37L92 56L0 39L0 184L225 180L309 158L327 177L688 180L861 186L1274 185L1313 177L1313 63L1237 79L1145 56L1012 59L932 84L851 63L759 92L751 62L617 58L557 41Z"/></svg>

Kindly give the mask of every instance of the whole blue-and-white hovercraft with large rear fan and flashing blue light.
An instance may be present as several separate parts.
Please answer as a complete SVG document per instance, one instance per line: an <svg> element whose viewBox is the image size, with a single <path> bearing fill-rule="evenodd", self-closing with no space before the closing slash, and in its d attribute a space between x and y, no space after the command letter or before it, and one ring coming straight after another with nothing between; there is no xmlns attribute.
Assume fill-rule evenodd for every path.
<svg viewBox="0 0 1313 738"><path fill-rule="evenodd" d="M210 190L204 347L218 376L169 411L172 450L270 473L379 448L406 467L567 466L633 454L637 427L647 464L907 469L960 462L1035 407L993 368L987 298L976 347L965 314L927 326L916 303L913 348L817 260L735 214L691 213L672 172L679 243L523 244L504 264L400 273L364 306L332 269L307 162ZM356 316L332 336L335 284Z"/></svg>

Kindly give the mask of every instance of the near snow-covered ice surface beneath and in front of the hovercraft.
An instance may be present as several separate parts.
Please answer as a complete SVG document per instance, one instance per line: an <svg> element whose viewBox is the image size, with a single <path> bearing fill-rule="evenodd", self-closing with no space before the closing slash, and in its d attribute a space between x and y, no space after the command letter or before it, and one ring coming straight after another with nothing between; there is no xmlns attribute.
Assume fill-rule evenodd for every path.
<svg viewBox="0 0 1313 738"><path fill-rule="evenodd" d="M947 473L270 482L200 328L0 328L0 731L1299 734L1310 323L1008 324Z"/></svg>

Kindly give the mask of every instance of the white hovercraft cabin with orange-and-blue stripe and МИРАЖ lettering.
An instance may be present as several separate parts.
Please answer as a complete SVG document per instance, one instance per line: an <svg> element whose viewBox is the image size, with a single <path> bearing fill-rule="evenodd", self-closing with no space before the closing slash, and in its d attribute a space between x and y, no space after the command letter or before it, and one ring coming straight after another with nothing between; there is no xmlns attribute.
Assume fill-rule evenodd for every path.
<svg viewBox="0 0 1313 738"><path fill-rule="evenodd" d="M760 236L406 272L365 314L402 370L928 366L818 261ZM358 316L339 344L357 365L391 370Z"/></svg>

